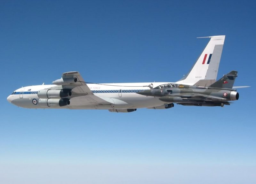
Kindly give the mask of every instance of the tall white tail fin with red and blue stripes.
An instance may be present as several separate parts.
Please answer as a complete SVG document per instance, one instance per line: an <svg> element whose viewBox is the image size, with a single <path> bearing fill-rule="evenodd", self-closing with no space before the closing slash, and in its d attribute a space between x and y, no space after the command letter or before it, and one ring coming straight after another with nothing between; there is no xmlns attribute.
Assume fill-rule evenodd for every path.
<svg viewBox="0 0 256 184"><path fill-rule="evenodd" d="M194 85L202 79L217 78L225 35L201 38L211 39L188 74L177 81L180 84Z"/></svg>

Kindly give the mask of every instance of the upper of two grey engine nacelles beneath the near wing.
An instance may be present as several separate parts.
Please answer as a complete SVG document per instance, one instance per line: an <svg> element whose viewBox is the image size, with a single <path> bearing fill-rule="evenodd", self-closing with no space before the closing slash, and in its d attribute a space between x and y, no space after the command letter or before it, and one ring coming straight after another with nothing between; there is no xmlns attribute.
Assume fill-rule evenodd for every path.
<svg viewBox="0 0 256 184"><path fill-rule="evenodd" d="M41 89L37 92L38 98L66 98L68 96L71 96L71 90L70 89L56 89L56 90L50 90L50 89Z"/></svg>

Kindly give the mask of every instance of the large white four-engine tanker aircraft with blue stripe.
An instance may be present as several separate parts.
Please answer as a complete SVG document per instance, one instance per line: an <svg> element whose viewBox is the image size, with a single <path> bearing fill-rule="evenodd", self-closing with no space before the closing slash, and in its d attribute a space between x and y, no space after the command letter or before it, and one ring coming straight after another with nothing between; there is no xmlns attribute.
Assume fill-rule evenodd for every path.
<svg viewBox="0 0 256 184"><path fill-rule="evenodd" d="M166 87L166 84L173 84L179 87L182 85L205 88L211 85L214 86L225 36L203 38L210 38L204 51L188 74L176 82L89 84L84 81L79 72L66 72L62 74L61 79L53 81L52 85L22 87L8 96L7 100L19 107L31 109L108 109L110 112L132 112L137 110L137 108L168 109L173 107L173 103L196 105L199 103L195 101L177 101L177 99L172 101L170 96L145 95L145 93L148 92L149 94L148 90L156 89L159 86L159 88L161 86ZM223 91L222 98L224 99L226 97L225 93L226 95L230 94L230 90ZM236 92L231 91L231 93L232 99L228 100L238 99L236 94L233 97ZM193 95L190 94L189 96L189 94L186 94L182 99L188 99L191 96ZM211 101L210 99L207 102L202 99L200 100L202 106L206 103L209 104L208 101ZM212 103L215 103L215 101ZM224 101L226 102L227 100L222 99L221 103L217 102L215 105L208 106L228 104L223 103Z"/></svg>

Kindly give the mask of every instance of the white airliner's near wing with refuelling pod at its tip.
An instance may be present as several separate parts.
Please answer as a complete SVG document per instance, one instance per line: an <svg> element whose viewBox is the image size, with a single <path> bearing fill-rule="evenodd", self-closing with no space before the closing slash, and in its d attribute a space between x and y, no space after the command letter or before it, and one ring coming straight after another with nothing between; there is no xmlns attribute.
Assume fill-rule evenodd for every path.
<svg viewBox="0 0 256 184"><path fill-rule="evenodd" d="M103 100L102 98L95 96L91 89L85 83L83 77L80 75L79 72L65 72L62 74L62 78L56 81L53 81L53 84L59 81L68 81L69 79L76 78L76 82L73 83L62 83L63 89L72 89L72 96L75 96L70 99L70 105L109 105L112 104ZM61 83L59 83L61 84ZM75 105L73 105L75 104Z"/></svg>

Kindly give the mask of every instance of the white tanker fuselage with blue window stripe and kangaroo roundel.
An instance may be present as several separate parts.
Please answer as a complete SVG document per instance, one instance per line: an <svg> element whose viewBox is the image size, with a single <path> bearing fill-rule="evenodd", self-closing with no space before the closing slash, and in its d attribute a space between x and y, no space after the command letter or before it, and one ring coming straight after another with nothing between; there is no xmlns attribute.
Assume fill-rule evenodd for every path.
<svg viewBox="0 0 256 184"><path fill-rule="evenodd" d="M39 97L37 92L41 89L47 89L56 85L36 85L27 86L15 90L7 100L19 107L24 108L67 108L67 109L137 109L150 108L166 105L157 97L143 96L136 92L150 89L149 85L153 87L174 82L145 82L145 83L108 83L108 84L87 84L92 93L101 99L109 102L109 104L97 104L88 101L83 96L70 98L70 105L62 107L42 107L37 103ZM34 101L33 101L34 100Z"/></svg>

